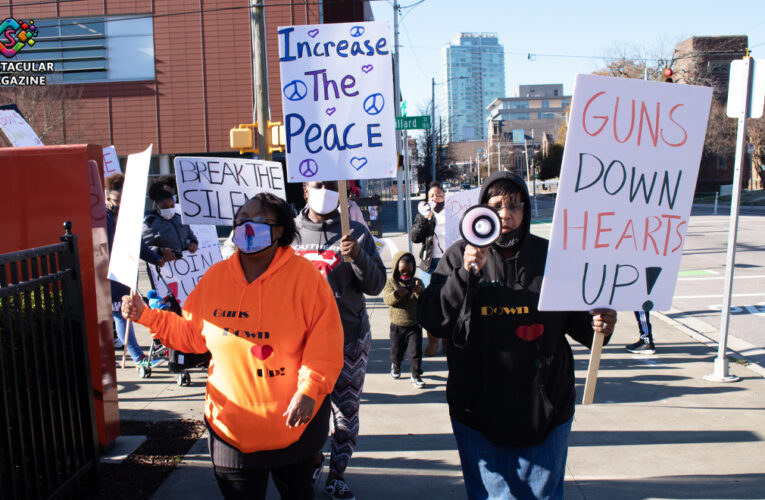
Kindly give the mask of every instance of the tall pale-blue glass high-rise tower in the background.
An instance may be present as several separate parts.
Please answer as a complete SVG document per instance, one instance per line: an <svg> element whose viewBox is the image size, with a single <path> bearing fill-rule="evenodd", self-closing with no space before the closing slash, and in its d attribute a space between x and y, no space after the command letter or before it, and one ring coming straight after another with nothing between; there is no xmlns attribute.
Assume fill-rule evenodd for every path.
<svg viewBox="0 0 765 500"><path fill-rule="evenodd" d="M486 107L505 95L505 50L496 33L459 33L442 51L449 142L486 140Z"/></svg>

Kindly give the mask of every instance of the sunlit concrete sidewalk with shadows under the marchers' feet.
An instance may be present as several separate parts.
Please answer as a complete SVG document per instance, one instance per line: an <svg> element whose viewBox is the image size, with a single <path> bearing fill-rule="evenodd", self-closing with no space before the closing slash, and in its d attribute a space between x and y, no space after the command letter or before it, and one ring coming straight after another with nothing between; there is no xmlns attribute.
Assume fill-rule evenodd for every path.
<svg viewBox="0 0 765 500"><path fill-rule="evenodd" d="M390 265L390 258L384 258ZM425 390L388 374L387 308L368 301L373 343L361 406L361 436L346 478L359 499L465 498L445 403L446 362L425 358ZM741 377L713 384L714 347L661 314L653 315L657 353L633 355L631 312L620 313L604 348L595 404L577 406L566 473L569 499L765 499L765 378L741 363ZM139 340L148 335L139 327ZM572 345L578 401L589 351ZM131 365L132 366L132 365ZM408 368L405 362L403 372ZM762 371L760 371L762 373ZM202 418L205 374L179 387L164 367L149 379L118 370L120 417ZM324 476L319 486L323 486ZM278 498L273 485L269 499ZM221 498L201 439L153 497ZM317 487L317 498L328 498Z"/></svg>

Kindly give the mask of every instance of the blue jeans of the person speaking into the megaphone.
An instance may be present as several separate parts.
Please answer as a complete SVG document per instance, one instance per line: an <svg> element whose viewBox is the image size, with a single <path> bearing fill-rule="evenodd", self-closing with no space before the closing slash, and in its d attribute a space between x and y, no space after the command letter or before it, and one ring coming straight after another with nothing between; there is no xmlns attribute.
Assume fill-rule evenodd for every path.
<svg viewBox="0 0 765 500"><path fill-rule="evenodd" d="M573 417L536 446L503 446L452 419L470 500L562 499Z"/></svg>

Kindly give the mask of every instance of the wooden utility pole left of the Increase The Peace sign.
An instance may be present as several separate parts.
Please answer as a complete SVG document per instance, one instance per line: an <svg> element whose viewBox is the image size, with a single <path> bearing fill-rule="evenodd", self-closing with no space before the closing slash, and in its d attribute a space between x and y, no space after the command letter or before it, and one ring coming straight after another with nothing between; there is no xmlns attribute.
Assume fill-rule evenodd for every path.
<svg viewBox="0 0 765 500"><path fill-rule="evenodd" d="M261 0L250 0L250 29L252 30L252 67L255 83L253 120L258 123L258 157L270 160L268 151L268 61L266 59L266 21Z"/></svg>

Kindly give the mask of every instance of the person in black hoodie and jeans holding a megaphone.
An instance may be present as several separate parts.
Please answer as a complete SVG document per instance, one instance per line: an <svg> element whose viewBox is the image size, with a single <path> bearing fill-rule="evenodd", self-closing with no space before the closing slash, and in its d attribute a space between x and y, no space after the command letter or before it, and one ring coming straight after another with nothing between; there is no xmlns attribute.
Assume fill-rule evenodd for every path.
<svg viewBox="0 0 765 500"><path fill-rule="evenodd" d="M448 339L447 402L468 498L560 499L575 399L566 334L587 347L596 333L608 342L616 312L539 311L548 242L529 231L526 184L497 172L479 203L499 213L499 239L450 246L417 317Z"/></svg>

